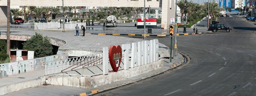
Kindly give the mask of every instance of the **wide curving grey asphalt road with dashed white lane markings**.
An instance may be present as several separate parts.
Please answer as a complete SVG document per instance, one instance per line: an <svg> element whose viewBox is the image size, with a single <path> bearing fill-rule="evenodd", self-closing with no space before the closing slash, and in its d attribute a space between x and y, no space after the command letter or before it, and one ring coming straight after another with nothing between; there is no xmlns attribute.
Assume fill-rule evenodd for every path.
<svg viewBox="0 0 256 96"><path fill-rule="evenodd" d="M256 96L256 23L238 17L218 18L232 28L229 33L178 36L188 64L95 96ZM155 38L170 46L169 37L147 39Z"/></svg>

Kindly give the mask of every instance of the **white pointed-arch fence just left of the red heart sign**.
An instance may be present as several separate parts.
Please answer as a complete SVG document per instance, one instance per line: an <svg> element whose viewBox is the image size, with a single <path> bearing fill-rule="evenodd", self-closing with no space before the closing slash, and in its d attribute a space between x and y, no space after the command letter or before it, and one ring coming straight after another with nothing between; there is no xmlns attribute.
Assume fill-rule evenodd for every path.
<svg viewBox="0 0 256 96"><path fill-rule="evenodd" d="M102 53L46 62L45 75L102 64Z"/></svg>

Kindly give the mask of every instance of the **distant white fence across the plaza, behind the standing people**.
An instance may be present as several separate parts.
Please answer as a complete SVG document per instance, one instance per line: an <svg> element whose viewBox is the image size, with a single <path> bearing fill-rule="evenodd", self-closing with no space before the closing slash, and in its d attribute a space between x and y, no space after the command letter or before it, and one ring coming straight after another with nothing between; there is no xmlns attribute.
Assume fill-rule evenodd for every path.
<svg viewBox="0 0 256 96"><path fill-rule="evenodd" d="M75 29L76 24L81 28L81 26L85 26L85 23L66 23L64 24L65 29ZM62 30L62 24L60 23L35 23L35 30Z"/></svg>

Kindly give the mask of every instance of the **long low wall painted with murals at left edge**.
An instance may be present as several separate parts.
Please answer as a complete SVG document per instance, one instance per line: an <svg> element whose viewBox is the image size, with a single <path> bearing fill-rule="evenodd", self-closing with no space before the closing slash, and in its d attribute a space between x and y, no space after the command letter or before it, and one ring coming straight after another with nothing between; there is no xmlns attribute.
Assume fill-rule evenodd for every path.
<svg viewBox="0 0 256 96"><path fill-rule="evenodd" d="M44 69L45 62L67 59L68 54L52 55L43 58L23 60L0 64L0 77L12 76L26 72Z"/></svg>

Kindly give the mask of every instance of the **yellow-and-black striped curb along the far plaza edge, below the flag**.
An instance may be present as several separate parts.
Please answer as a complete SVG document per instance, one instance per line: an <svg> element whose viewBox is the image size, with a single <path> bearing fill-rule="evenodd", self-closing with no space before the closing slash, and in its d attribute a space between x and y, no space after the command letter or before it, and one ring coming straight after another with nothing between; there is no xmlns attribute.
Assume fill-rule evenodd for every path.
<svg viewBox="0 0 256 96"><path fill-rule="evenodd" d="M144 34L102 34L102 33L85 33L85 34L93 34L93 35L115 35L115 36L144 36ZM187 36L187 35L200 35L200 34L205 34L204 32L199 32L198 34L196 33L185 33L185 34L177 34L177 36ZM150 35L150 34L146 34L145 36L169 36L169 35Z"/></svg>

